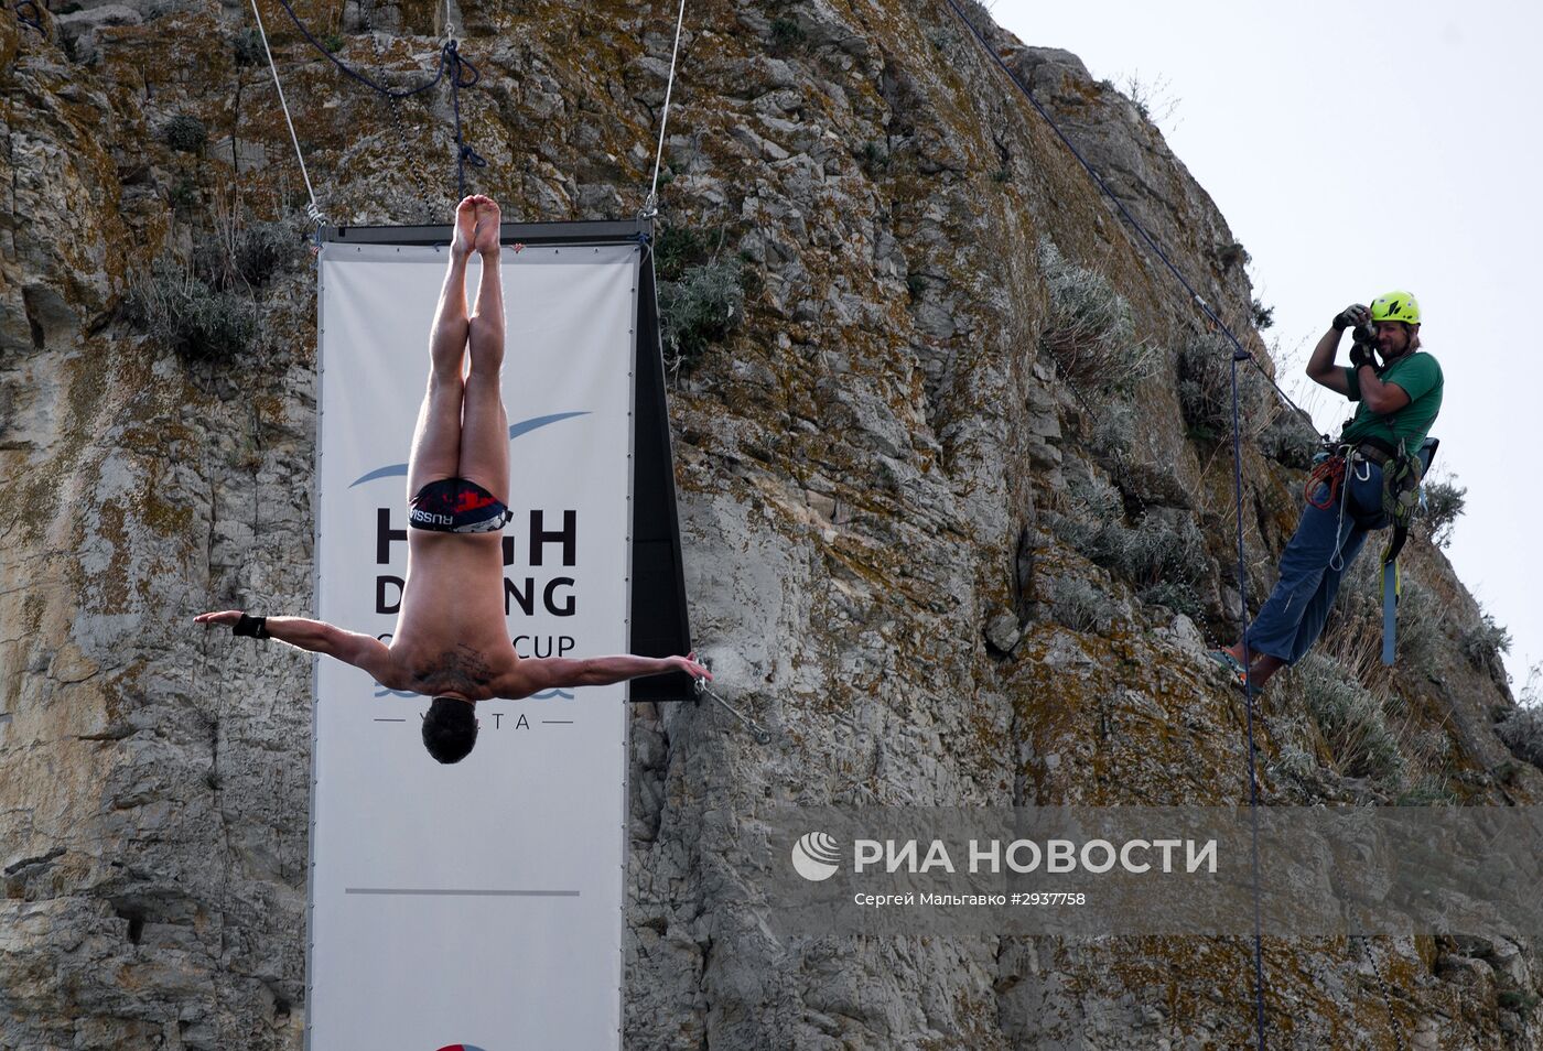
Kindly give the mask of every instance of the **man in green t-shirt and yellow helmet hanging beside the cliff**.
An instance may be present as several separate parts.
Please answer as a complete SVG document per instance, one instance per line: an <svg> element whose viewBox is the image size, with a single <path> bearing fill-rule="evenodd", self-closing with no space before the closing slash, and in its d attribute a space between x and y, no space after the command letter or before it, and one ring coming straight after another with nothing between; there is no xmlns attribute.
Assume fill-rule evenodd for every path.
<svg viewBox="0 0 1543 1051"><path fill-rule="evenodd" d="M1358 333L1350 366L1336 366L1339 341L1352 327ZM1420 304L1407 292L1389 292L1370 310L1355 304L1335 315L1333 327L1307 361L1307 375L1359 406L1339 435L1341 444L1350 448L1341 491L1335 492L1329 482L1318 486L1281 556L1281 580L1259 616L1234 645L1211 653L1239 681L1251 659L1248 679L1254 688L1301 661L1318 640L1367 532L1389 525L1383 465L1400 444L1418 451L1441 411L1441 366L1420 350Z"/></svg>

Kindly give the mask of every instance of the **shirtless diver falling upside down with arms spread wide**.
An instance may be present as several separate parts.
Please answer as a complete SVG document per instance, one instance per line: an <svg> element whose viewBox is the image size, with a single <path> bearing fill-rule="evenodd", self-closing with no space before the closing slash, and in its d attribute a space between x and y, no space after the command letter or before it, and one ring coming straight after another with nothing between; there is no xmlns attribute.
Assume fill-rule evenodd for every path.
<svg viewBox="0 0 1543 1051"><path fill-rule="evenodd" d="M509 522L509 421L503 406L505 321L500 210L469 196L455 208L455 236L429 333L429 384L407 463L407 576L390 645L306 617L204 613L198 624L278 639L352 664L389 690L434 698L423 744L458 762L477 744L475 704L555 687L609 685L685 671L711 679L696 654L589 659L520 657L505 625L501 531ZM481 258L477 306L466 313L466 264ZM466 357L471 367L466 369Z"/></svg>

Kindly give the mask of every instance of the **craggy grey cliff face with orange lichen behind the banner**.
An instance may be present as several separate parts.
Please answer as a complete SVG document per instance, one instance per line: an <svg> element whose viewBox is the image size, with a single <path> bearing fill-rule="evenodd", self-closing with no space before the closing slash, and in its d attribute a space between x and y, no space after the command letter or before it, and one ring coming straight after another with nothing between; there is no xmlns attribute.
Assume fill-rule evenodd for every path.
<svg viewBox="0 0 1543 1051"><path fill-rule="evenodd" d="M298 11L393 85L434 68L438 5ZM518 219L634 213L673 11L451 3L483 77L461 96L489 162L472 188ZM289 1051L310 661L187 620L309 611L315 279L287 238L255 262L256 231L302 228L304 187L242 5L23 12L40 28L0 14L0 1048ZM636 713L626 1045L1250 1043L1242 940L765 934L739 872L770 806L1245 799L1241 704L1202 654L1242 608L1230 353L944 3L688 15L665 238L693 248L680 282L738 261L745 304L679 361L688 586L719 684L773 742L708 707ZM447 96L383 103L281 19L322 208L444 221ZM1242 247L1159 133L1072 56L983 25L1271 367ZM147 289L177 275L202 335L156 327ZM1258 608L1304 435L1245 378ZM1540 795L1495 733L1512 701L1492 625L1427 539L1404 562L1400 668L1376 664L1372 585L1352 583L1265 702L1267 803ZM1267 943L1271 1046L1543 1036L1531 945L1393 940L1372 960Z"/></svg>

